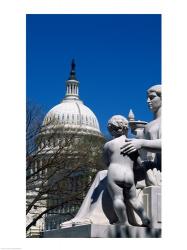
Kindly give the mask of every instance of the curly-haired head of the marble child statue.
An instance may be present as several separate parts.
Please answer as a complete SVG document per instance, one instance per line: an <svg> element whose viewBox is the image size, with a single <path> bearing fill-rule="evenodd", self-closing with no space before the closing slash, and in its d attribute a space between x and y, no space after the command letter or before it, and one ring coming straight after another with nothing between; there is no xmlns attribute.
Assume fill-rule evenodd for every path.
<svg viewBox="0 0 187 250"><path fill-rule="evenodd" d="M108 121L108 131L114 137L127 135L128 120L122 115L114 115Z"/></svg>

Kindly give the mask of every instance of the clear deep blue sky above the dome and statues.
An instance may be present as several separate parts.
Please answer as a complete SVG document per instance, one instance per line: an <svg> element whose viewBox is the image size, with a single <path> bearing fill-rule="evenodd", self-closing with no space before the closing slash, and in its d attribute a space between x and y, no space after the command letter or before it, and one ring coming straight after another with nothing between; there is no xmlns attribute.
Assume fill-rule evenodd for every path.
<svg viewBox="0 0 187 250"><path fill-rule="evenodd" d="M160 15L27 15L27 99L47 112L66 91L72 58L80 98L108 119L150 121L146 90L161 82Z"/></svg>

